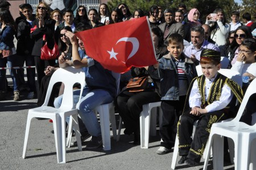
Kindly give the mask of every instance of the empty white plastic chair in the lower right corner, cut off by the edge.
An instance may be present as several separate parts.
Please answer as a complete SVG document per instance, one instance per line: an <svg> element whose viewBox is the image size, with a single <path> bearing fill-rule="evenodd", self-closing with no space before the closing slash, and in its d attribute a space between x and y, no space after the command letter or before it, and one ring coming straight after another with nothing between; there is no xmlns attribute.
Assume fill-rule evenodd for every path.
<svg viewBox="0 0 256 170"><path fill-rule="evenodd" d="M255 146L256 124L249 126L246 123L239 122L250 96L256 93L255 86L256 80L254 79L246 90L236 118L230 122L214 123L212 125L209 145L205 148L207 156L204 161L204 169L207 169L211 146L213 147L213 169L223 169L224 136L234 141L235 169L256 169L255 147L254 150L251 150Z"/></svg>

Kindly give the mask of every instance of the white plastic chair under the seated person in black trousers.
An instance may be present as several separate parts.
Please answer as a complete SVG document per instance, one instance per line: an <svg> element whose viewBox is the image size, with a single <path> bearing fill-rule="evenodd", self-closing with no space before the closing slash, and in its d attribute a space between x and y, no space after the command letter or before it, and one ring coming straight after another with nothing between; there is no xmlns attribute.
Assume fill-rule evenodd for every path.
<svg viewBox="0 0 256 170"><path fill-rule="evenodd" d="M149 135L150 130L152 135L156 135L156 112L152 116L152 109L155 107L159 107L160 114L159 114L159 124L162 123L162 109L161 109L161 102L154 102L154 103L147 103L143 105L143 110L139 117L140 121L140 130L141 130L141 148L148 148L149 142ZM151 128L150 128L151 127Z"/></svg>

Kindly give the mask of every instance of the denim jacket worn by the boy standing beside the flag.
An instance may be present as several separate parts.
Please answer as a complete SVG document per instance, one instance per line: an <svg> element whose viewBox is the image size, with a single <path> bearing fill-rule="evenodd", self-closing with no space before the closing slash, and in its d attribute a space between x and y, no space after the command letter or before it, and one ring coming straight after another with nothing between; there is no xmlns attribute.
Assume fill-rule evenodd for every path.
<svg viewBox="0 0 256 170"><path fill-rule="evenodd" d="M181 54L181 59L185 60L185 74L188 84L194 77L197 77L196 65L191 59ZM162 100L179 100L179 77L175 64L175 59L170 55L163 56L158 60L159 69L149 68L151 76L160 78L160 92ZM159 70L159 72L158 72ZM160 75L160 77L159 77Z"/></svg>

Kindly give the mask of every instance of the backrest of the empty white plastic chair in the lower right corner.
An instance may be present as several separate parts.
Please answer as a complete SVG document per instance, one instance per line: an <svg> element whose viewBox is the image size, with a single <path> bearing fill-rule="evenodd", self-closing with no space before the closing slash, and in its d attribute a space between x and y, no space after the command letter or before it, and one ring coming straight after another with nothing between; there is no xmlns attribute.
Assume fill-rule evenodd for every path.
<svg viewBox="0 0 256 170"><path fill-rule="evenodd" d="M242 100L242 103L241 103L240 108L238 110L237 116L236 116L236 118L234 118L232 120L232 122L239 122L240 121L240 118L242 117L243 111L245 110L245 106L246 106L247 102L249 101L249 98L251 97L251 95L256 93L256 88L255 87L256 87L256 78L254 78L254 80L248 86L248 88L245 92L245 96L243 96L243 100ZM254 126L256 126L256 124Z"/></svg>

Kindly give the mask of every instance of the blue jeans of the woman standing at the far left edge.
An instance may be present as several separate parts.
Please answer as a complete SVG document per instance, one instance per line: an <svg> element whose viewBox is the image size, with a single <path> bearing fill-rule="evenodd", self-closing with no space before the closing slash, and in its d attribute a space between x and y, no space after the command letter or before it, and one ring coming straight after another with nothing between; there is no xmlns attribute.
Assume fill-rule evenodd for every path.
<svg viewBox="0 0 256 170"><path fill-rule="evenodd" d="M11 55L5 58L0 59L0 68L1 67L6 67L6 63L8 65L8 67L13 67L13 62L15 60L15 55ZM18 85L17 85L17 81L16 81L16 71L15 69L10 69L10 75L11 78L13 79L13 89L14 91L19 90L18 89ZM0 90L6 91L6 69L2 69L0 70Z"/></svg>

